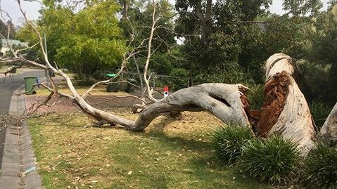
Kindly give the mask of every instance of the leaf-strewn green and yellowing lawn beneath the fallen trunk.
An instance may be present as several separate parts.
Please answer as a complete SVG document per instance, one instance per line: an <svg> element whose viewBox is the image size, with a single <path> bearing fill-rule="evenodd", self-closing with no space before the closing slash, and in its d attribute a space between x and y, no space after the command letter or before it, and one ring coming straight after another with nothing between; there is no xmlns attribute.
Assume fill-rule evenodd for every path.
<svg viewBox="0 0 337 189"><path fill-rule="evenodd" d="M205 112L158 117L144 133L93 128L69 112L29 124L45 188L270 188L213 162L205 133L220 122L209 120Z"/></svg>

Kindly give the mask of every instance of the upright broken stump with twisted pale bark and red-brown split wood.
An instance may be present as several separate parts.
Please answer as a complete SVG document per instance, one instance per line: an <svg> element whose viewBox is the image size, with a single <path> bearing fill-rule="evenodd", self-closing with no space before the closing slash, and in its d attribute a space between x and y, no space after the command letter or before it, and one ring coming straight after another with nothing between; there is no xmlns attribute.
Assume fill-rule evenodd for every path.
<svg viewBox="0 0 337 189"><path fill-rule="evenodd" d="M291 139L298 143L301 154L305 156L314 146L312 141L315 135L314 123L307 101L292 77L294 72L291 58L284 54L274 54L267 60L265 88L269 87L270 90L267 94L267 105L262 108L261 116L264 111L273 113L281 110L274 124L265 129L267 136L279 133L285 138ZM274 88L268 86L272 79L277 77L281 81L279 85L284 86L282 89L286 89L286 93L280 91L276 86ZM285 100L279 100L280 98L285 98ZM264 116L261 117L262 120L273 119L271 115L265 114Z"/></svg>

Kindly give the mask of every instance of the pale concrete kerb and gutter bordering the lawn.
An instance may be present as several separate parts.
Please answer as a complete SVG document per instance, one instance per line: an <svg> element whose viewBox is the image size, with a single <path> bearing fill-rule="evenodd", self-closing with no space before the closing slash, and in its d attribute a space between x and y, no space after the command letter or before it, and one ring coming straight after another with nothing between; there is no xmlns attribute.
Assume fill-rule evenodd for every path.
<svg viewBox="0 0 337 189"><path fill-rule="evenodd" d="M24 86L20 86L14 93L23 92L23 88ZM25 96L12 96L9 114L20 116L23 115L25 109ZM25 120L22 126L7 126L6 128L0 188L43 188L41 177L37 173L32 141Z"/></svg>

